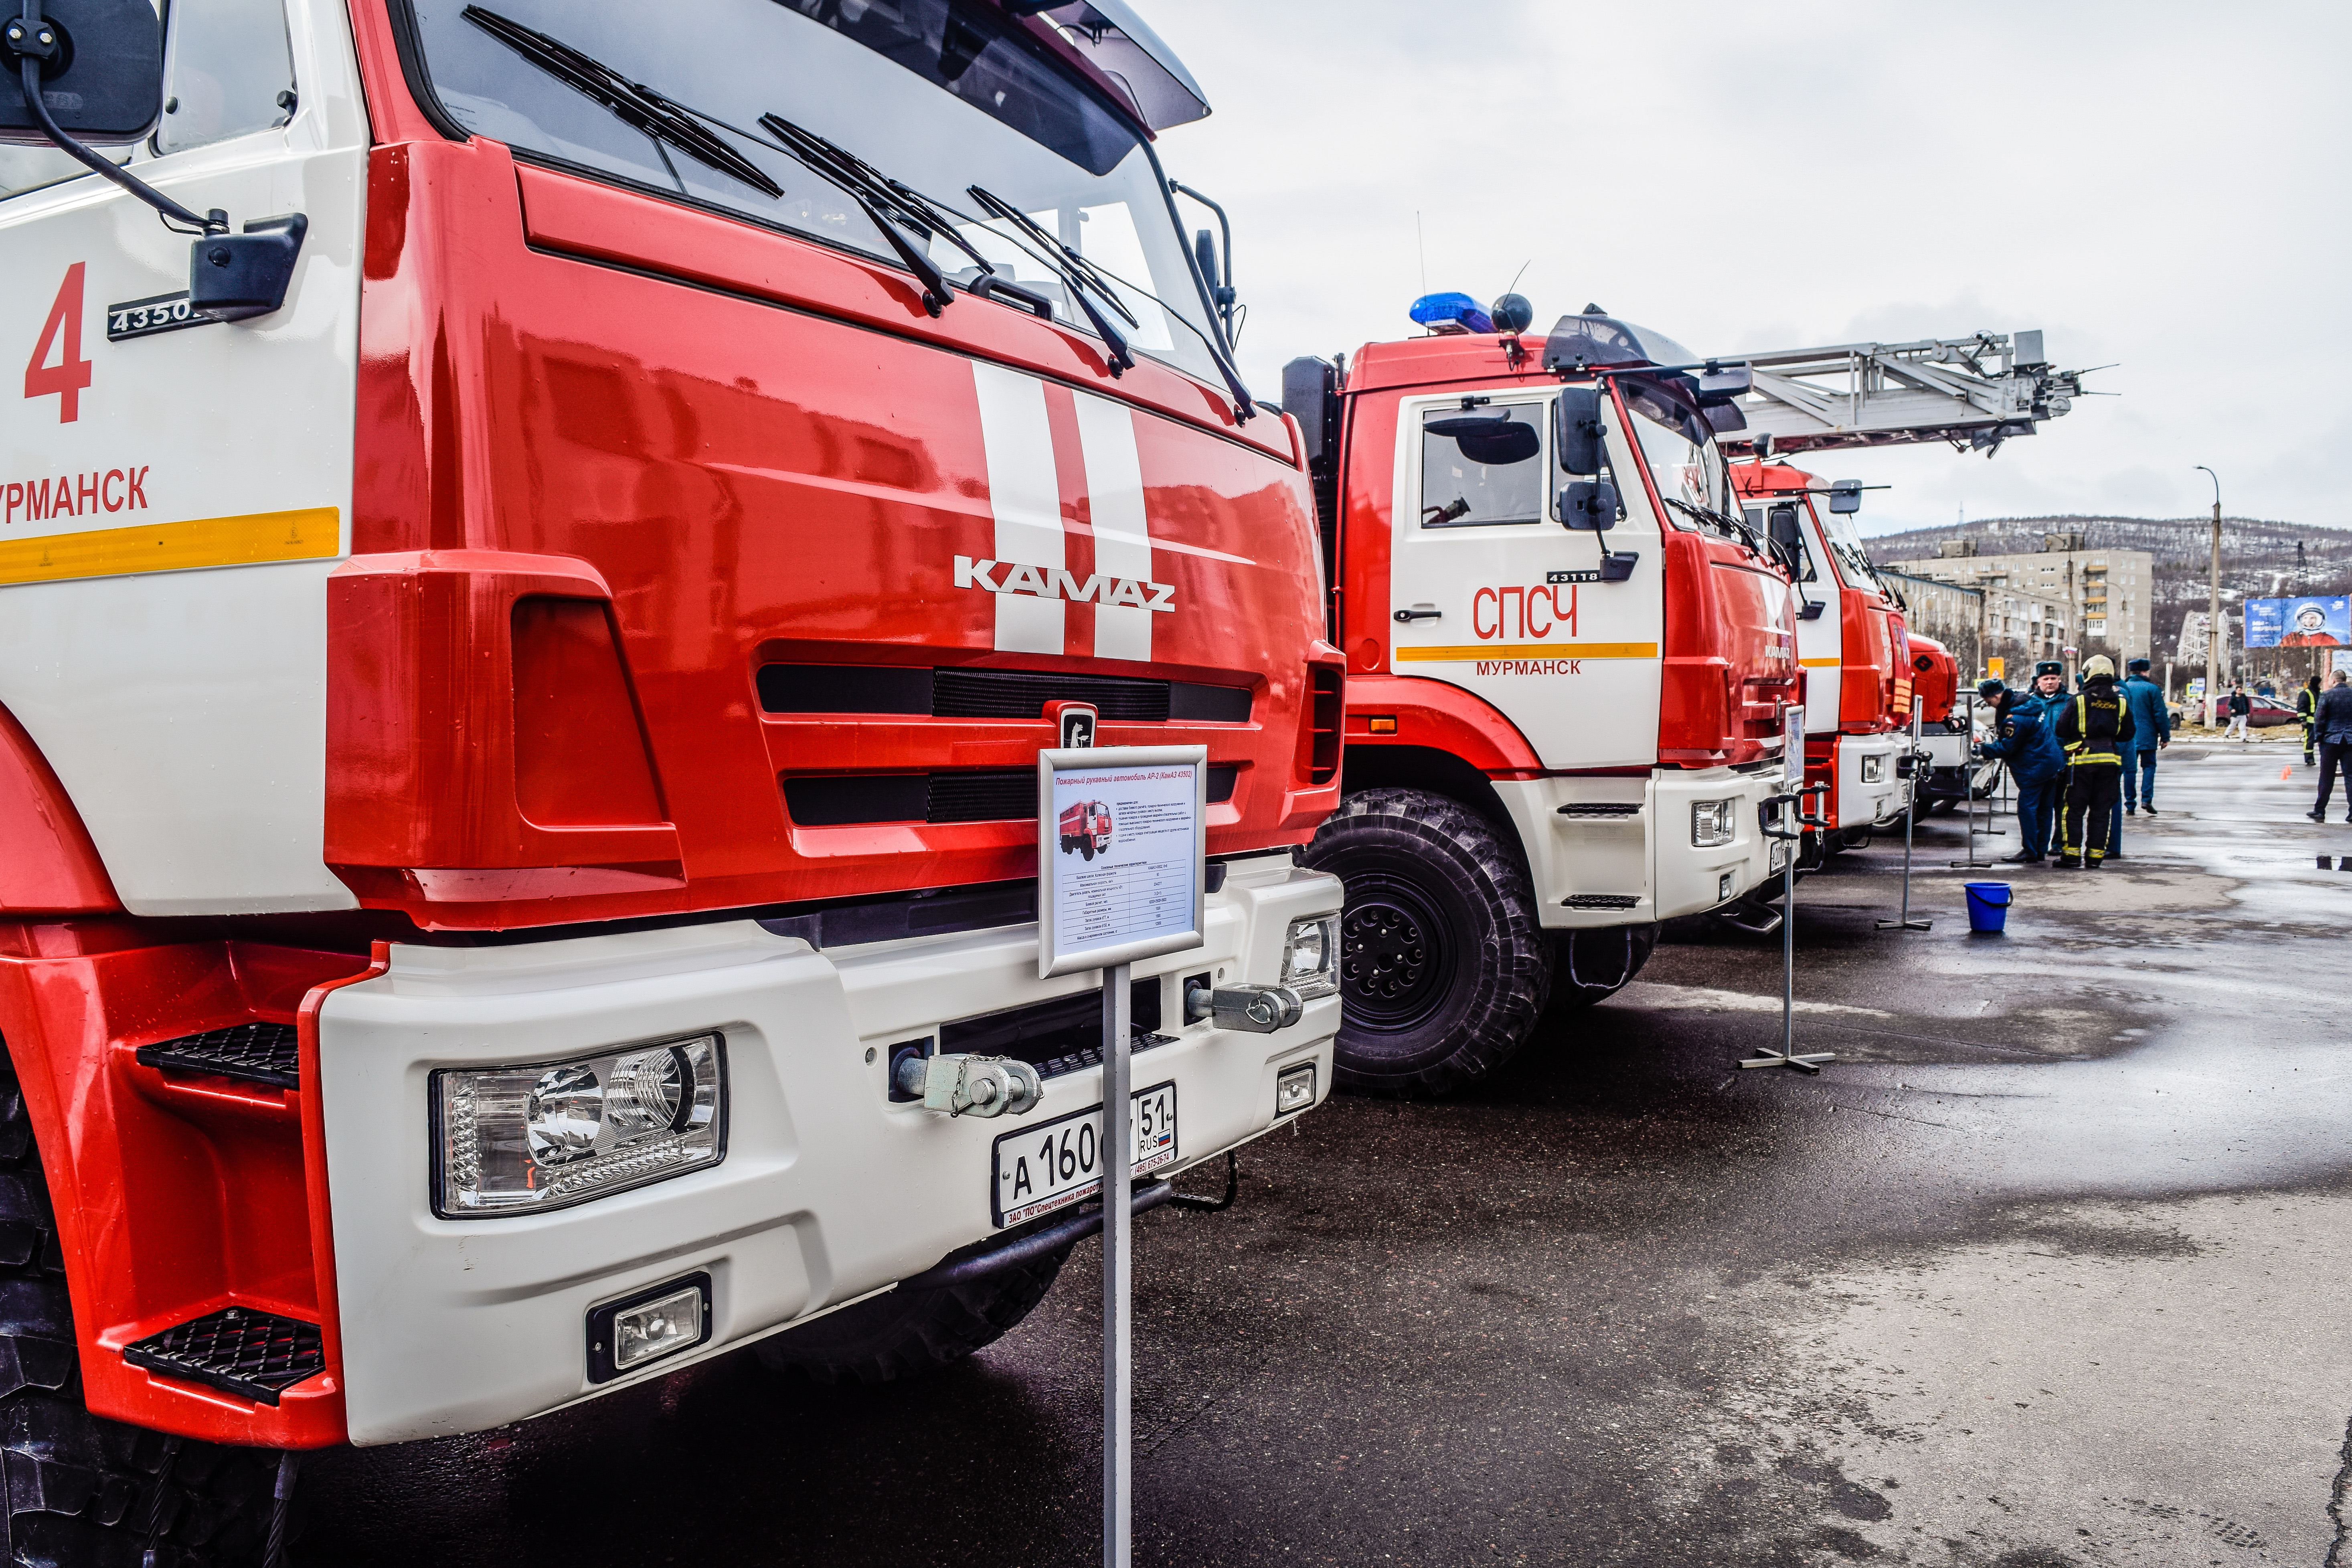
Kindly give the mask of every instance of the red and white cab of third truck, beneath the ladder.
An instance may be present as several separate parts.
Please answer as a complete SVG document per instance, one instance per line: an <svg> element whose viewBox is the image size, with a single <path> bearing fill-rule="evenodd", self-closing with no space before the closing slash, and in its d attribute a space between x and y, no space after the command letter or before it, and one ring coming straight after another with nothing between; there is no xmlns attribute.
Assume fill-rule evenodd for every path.
<svg viewBox="0 0 2352 1568"><path fill-rule="evenodd" d="M1903 607L1879 581L1849 517L1860 484L1825 484L1788 463L1731 465L1750 527L1792 552L1797 656L1804 661L1804 783L1825 788L1830 832L1806 830L1804 858L1837 853L1903 813L1912 670ZM1828 501L1828 510L1816 508Z"/></svg>

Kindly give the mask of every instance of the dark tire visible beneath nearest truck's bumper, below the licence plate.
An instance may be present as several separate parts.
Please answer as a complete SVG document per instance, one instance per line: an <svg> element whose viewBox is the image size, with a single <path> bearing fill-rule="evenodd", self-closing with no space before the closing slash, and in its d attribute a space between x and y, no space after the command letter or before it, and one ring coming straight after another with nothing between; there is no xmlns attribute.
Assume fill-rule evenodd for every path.
<svg viewBox="0 0 2352 1568"><path fill-rule="evenodd" d="M760 1340L753 1354L809 1382L896 1382L953 1366L1002 1340L1044 1300L1070 1248L936 1291L884 1291L802 1328Z"/></svg>

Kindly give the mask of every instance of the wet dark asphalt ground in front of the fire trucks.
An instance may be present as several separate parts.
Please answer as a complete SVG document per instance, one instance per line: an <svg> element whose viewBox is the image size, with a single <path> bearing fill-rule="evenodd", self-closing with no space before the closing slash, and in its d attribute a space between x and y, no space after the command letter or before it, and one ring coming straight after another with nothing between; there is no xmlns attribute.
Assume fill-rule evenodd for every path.
<svg viewBox="0 0 2352 1568"><path fill-rule="evenodd" d="M1900 837L1835 858L1816 1079L1733 1067L1778 938L1691 926L1472 1093L1249 1145L1232 1211L1138 1225L1136 1561L2352 1566L2352 825L2310 790L2173 748L2096 875L1952 870L1926 818L1924 933L1877 929ZM320 1455L296 1561L1101 1561L1098 1258L929 1380L736 1354Z"/></svg>

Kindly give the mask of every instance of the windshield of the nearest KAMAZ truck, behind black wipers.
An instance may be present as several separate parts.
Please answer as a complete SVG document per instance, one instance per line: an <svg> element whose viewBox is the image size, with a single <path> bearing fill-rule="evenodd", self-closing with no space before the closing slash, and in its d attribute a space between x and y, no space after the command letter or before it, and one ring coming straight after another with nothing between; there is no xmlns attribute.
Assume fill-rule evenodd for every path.
<svg viewBox="0 0 2352 1568"><path fill-rule="evenodd" d="M840 143L957 219L1000 275L1087 331L1068 284L1033 237L988 219L981 186L1108 275L1134 320L1129 346L1204 381L1218 376L1209 317L1150 146L1035 38L960 0L412 0L433 94L466 129L522 153L739 212L896 266L856 200L774 143L781 115ZM475 16L468 16L475 9ZM748 162L769 195L640 129L527 59L487 21L534 28L590 56ZM659 103L659 99L652 99ZM920 235L915 244L922 244ZM981 275L948 237L931 259L955 282ZM1124 327L1122 327L1124 329Z"/></svg>

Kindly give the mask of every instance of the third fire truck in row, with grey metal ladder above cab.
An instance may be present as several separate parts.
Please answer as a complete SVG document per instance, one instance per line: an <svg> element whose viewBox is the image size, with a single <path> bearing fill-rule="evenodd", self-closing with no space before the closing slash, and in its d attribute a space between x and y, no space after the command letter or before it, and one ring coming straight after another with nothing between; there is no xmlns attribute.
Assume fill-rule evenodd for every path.
<svg viewBox="0 0 2352 1568"><path fill-rule="evenodd" d="M2002 442L2067 414L2084 395L2084 371L2053 369L2039 331L1778 348L1738 360L1750 367L1750 388L1740 397L1743 428L1724 435L1724 447L1745 456L1731 480L1748 522L1799 559L1806 785L1828 790L1832 823L1828 832L1806 830L1802 853L1818 865L1900 818L1917 686L1929 677L1957 684L1957 672L1938 665L1940 644L1915 646L1900 595L1872 567L1851 522L1863 484L1823 484L1773 458L1924 442L1990 458ZM1922 795L1962 799L1983 783L1973 778L1969 736L1950 729L1950 698L1943 708L1924 715L1933 790Z"/></svg>

